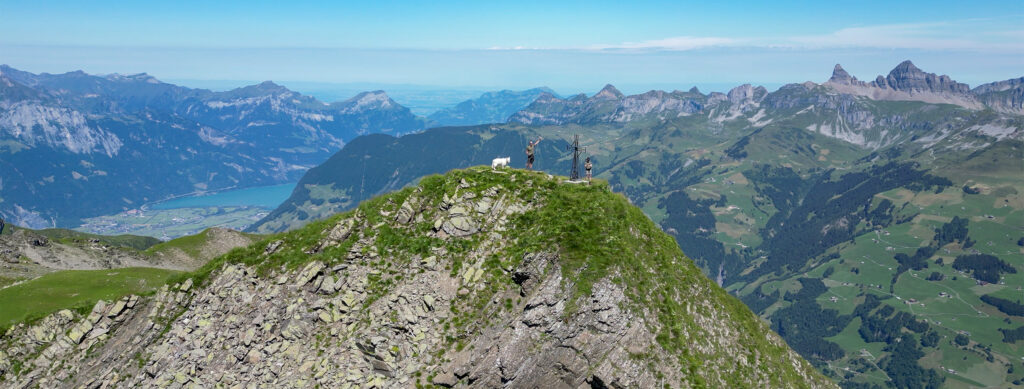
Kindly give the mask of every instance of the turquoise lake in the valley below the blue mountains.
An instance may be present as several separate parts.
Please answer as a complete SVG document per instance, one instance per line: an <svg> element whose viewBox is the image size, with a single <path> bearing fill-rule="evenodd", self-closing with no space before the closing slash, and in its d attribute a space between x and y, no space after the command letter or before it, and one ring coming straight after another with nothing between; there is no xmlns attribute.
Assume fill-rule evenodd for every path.
<svg viewBox="0 0 1024 389"><path fill-rule="evenodd" d="M296 182L292 182L281 185L224 190L210 194L168 200L152 204L150 208L155 210L170 210L177 208L250 206L274 209L292 194L292 189L295 188L295 185Z"/></svg>

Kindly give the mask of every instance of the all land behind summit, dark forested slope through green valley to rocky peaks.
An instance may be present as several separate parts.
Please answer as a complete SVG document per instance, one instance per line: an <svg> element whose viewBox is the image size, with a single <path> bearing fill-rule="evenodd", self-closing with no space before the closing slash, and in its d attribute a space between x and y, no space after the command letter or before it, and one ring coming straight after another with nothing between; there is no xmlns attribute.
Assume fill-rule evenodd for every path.
<svg viewBox="0 0 1024 389"><path fill-rule="evenodd" d="M539 136L538 168L565 174L573 134L596 177L844 387L1021 386L1024 78L970 88L904 61L771 92L543 92L504 123L355 138L251 229L521 167Z"/></svg>

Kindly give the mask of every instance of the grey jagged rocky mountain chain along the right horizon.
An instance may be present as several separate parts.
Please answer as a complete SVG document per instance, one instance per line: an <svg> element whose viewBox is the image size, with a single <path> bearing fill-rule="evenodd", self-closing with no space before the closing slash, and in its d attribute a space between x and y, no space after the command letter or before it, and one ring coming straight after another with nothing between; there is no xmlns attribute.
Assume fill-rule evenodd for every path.
<svg viewBox="0 0 1024 389"><path fill-rule="evenodd" d="M994 82L971 89L968 84L956 82L949 76L927 73L913 62L904 60L889 75L878 76L871 82L860 81L842 66L836 64L831 77L824 83L786 84L772 92L762 86L744 84L728 93L702 94L692 88L688 92L652 90L624 95L615 87L605 85L590 97L579 94L562 99L542 94L532 103L509 117L508 122L565 125L626 123L646 119L666 121L679 117L706 116L716 123L750 120L751 123L760 125L780 114L779 104L762 106L761 102L793 97L795 89L815 94L813 100L829 100L838 96L840 99L850 97L849 100L852 101L853 98L866 97L878 101L920 101L958 105L971 111L990 109L1000 114L1024 115L1024 82L1021 79ZM782 105L796 102L808 101L791 100ZM764 113L760 113L762 109L765 109Z"/></svg>

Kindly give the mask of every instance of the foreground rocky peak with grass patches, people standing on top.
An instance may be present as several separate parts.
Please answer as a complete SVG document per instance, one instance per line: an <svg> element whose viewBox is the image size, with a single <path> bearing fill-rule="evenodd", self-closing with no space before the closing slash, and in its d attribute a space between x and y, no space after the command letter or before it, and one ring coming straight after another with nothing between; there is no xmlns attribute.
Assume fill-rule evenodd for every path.
<svg viewBox="0 0 1024 389"><path fill-rule="evenodd" d="M487 168L0 337L2 387L834 387L607 183Z"/></svg>

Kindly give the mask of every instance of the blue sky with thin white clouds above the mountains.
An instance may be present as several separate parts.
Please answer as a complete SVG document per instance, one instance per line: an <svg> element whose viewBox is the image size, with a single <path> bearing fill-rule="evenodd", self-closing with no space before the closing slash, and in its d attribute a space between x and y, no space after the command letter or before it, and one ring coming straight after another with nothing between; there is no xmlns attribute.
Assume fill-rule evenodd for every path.
<svg viewBox="0 0 1024 389"><path fill-rule="evenodd" d="M31 72L627 92L873 79L903 59L1024 76L1022 1L12 1L0 62ZM200 82L200 81L196 81Z"/></svg>

